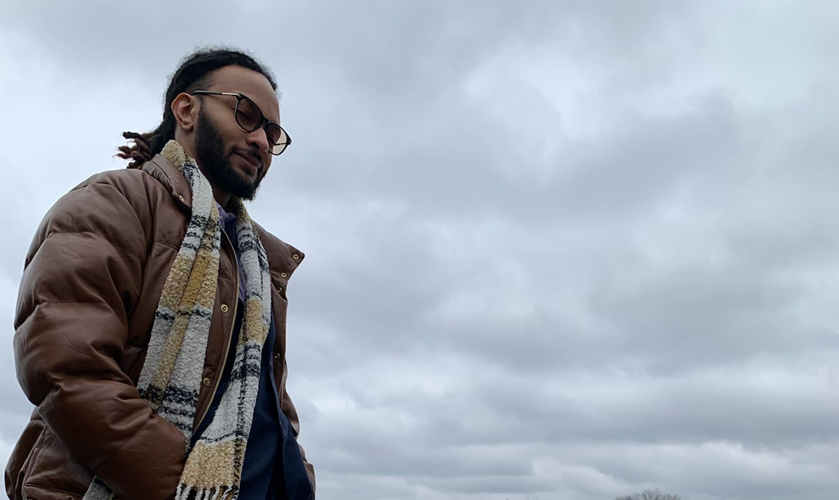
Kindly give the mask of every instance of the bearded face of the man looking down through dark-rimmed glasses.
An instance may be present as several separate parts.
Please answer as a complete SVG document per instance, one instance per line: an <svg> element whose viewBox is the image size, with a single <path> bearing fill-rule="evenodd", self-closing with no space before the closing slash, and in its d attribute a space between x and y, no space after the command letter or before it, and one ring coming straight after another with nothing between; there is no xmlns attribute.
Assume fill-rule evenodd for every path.
<svg viewBox="0 0 839 500"><path fill-rule="evenodd" d="M279 102L268 80L241 66L216 71L206 91L238 92L257 104L263 115L279 123ZM236 121L235 96L201 96L195 123L195 159L212 185L228 194L253 200L271 160L263 128L245 132Z"/></svg>

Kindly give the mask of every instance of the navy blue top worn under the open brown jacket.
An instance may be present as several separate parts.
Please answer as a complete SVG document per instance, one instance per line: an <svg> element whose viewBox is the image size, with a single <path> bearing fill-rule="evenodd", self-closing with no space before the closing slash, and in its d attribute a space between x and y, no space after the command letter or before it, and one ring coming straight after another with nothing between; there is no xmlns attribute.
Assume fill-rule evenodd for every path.
<svg viewBox="0 0 839 500"><path fill-rule="evenodd" d="M219 215L227 235L230 237L237 253L236 244L236 216L227 214L221 206ZM227 389L236 349L239 332L242 329L242 311L244 310L245 287L244 273L239 269L239 305L237 307L236 323L233 326L231 349L227 355L224 371L221 373L218 390L208 409L201 427L195 430L195 440L206 429L216 413L221 401L221 394ZM289 419L280 408L277 398L277 383L274 380L274 357L272 346L277 336L274 326L274 311L271 311L271 322L268 326L268 338L263 346L262 369L259 376L259 392L256 408L253 412L253 424L248 437L248 449L245 451L245 462L242 466L242 483L239 490L240 500L309 500L315 495L311 490L309 476L306 474L300 448L294 436Z"/></svg>

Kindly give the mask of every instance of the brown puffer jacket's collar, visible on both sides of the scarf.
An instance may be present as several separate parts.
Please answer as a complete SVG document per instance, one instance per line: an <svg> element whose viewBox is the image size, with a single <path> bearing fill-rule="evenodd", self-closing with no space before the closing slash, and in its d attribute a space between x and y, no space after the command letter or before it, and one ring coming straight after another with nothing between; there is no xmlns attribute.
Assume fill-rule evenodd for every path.
<svg viewBox="0 0 839 500"><path fill-rule="evenodd" d="M188 211L192 210L190 185L186 182L184 174L181 174L180 170L168 158L163 154L155 154L154 158L144 163L141 169L154 179L159 180L175 198L176 203L179 203ZM254 227L257 228L259 240L268 255L268 263L271 264L271 276L275 282L279 281L284 284L291 273L294 273L294 269L303 262L305 254L265 231L262 226L255 222Z"/></svg>

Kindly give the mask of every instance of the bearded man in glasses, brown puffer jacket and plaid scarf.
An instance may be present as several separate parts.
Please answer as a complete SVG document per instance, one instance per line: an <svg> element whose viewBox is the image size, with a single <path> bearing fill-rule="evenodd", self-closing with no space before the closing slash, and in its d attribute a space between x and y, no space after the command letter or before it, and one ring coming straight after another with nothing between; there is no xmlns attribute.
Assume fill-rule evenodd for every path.
<svg viewBox="0 0 839 500"><path fill-rule="evenodd" d="M160 126L123 135L129 168L62 197L26 257L14 354L37 409L8 496L314 497L285 390L285 288L303 253L242 203L291 143L273 76L200 50Z"/></svg>

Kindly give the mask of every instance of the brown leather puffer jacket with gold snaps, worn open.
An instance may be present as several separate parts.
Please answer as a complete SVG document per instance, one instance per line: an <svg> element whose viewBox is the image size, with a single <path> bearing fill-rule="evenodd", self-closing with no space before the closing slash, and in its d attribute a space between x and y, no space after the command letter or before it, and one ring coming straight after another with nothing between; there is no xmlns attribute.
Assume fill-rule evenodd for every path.
<svg viewBox="0 0 839 500"><path fill-rule="evenodd" d="M13 500L81 498L94 474L120 500L175 495L184 436L152 413L135 384L191 200L189 185L169 160L157 155L150 161L150 174L140 169L96 174L63 196L29 248L14 354L18 381L37 408L6 469ZM303 253L261 227L258 233L273 284L274 376L296 433L297 412L285 391L285 286ZM233 249L221 239L196 419L219 383L237 300ZM305 465L314 487L314 470Z"/></svg>

